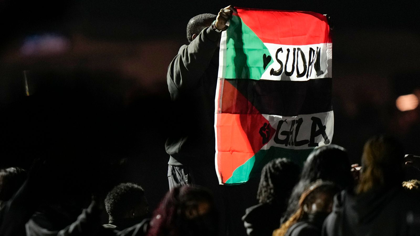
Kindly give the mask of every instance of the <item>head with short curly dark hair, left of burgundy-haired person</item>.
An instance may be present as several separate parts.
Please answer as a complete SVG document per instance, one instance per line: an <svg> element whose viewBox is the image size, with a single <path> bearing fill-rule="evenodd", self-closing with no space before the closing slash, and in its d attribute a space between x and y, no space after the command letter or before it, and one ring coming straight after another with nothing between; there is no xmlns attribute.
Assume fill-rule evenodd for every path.
<svg viewBox="0 0 420 236"><path fill-rule="evenodd" d="M140 223L149 212L144 189L132 183L118 184L105 198L109 223L118 228L128 228Z"/></svg>

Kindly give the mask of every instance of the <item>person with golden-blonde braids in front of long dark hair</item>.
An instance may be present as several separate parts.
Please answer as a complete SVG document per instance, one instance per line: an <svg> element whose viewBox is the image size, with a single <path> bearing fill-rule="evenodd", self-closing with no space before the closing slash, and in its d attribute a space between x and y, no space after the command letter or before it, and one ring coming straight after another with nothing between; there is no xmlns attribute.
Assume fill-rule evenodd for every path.
<svg viewBox="0 0 420 236"><path fill-rule="evenodd" d="M332 182L312 183L300 197L298 210L273 232L273 236L320 236L337 192L339 188Z"/></svg>

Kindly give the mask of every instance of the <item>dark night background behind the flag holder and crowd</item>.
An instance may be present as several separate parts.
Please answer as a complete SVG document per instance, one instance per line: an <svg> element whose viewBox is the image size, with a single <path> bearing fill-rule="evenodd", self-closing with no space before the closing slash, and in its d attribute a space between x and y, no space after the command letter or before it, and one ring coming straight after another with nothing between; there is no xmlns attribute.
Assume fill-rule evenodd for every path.
<svg viewBox="0 0 420 236"><path fill-rule="evenodd" d="M419 108L395 106L420 96L419 1L0 0L0 168L46 157L102 178L104 192L138 183L154 209L168 189L168 64L190 18L230 4L330 14L333 143L358 163L364 142L388 132L420 154Z"/></svg>

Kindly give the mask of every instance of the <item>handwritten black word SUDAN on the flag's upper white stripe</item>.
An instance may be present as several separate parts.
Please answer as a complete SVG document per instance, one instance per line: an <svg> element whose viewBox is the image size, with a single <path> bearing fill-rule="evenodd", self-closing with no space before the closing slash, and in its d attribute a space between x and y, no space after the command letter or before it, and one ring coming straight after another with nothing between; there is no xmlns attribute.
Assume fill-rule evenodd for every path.
<svg viewBox="0 0 420 236"><path fill-rule="evenodd" d="M293 52L292 52L293 60L292 60L291 66L289 63L289 60L291 58L290 49L288 48L286 49L286 51L287 51L286 63L283 64L283 62L279 59L279 56L278 56L279 53L283 53L283 48L281 47L277 49L276 60L280 64L280 68L278 70L274 70L274 68L271 68L270 75L279 76L281 75L281 73L283 73L283 69L284 69L284 74L286 76L292 76L294 72L296 71L297 78L301 78L305 75L306 75L306 78L308 78L312 74L312 67L315 69L317 76L320 76L324 73L323 71L321 71L321 66L320 66L320 58L321 58L320 47L316 47L316 50L313 49L312 47L309 48L309 52L307 55L308 60L306 60L307 57L305 56L304 52L302 51L300 47L294 47ZM299 64L303 66L303 71L299 71Z"/></svg>

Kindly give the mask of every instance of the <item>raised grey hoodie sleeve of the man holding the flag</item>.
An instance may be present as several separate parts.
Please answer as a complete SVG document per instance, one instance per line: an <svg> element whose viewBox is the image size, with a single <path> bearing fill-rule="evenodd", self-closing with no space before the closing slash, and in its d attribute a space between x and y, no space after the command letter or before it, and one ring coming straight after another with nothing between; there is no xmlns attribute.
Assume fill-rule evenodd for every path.
<svg viewBox="0 0 420 236"><path fill-rule="evenodd" d="M203 29L189 45L184 45L168 67L168 87L188 90L197 86L210 64L220 40L220 33L211 27Z"/></svg>

